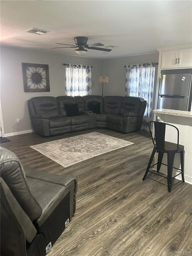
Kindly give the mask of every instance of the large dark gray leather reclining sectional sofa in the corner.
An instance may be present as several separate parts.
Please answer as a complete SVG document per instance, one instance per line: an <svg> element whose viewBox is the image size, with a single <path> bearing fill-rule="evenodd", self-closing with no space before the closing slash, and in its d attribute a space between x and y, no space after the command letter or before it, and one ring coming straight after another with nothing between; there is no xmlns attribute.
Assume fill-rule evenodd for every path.
<svg viewBox="0 0 192 256"><path fill-rule="evenodd" d="M90 111L90 102L100 103L99 114ZM80 115L67 116L66 105L76 103ZM133 132L141 128L146 105L142 98L127 96L44 96L28 100L33 129L45 137L96 127Z"/></svg>

